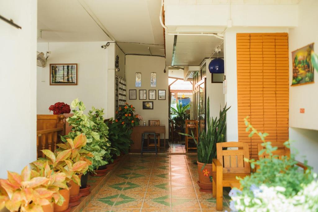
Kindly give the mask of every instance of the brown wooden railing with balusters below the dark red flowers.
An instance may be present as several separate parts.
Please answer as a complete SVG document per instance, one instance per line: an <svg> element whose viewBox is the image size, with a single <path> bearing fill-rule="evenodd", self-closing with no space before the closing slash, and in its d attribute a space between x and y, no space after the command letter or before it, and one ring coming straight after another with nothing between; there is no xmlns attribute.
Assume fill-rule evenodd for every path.
<svg viewBox="0 0 318 212"><path fill-rule="evenodd" d="M38 115L37 157L44 157L41 150L56 150L56 144L61 142L60 136L65 135L65 116Z"/></svg>

